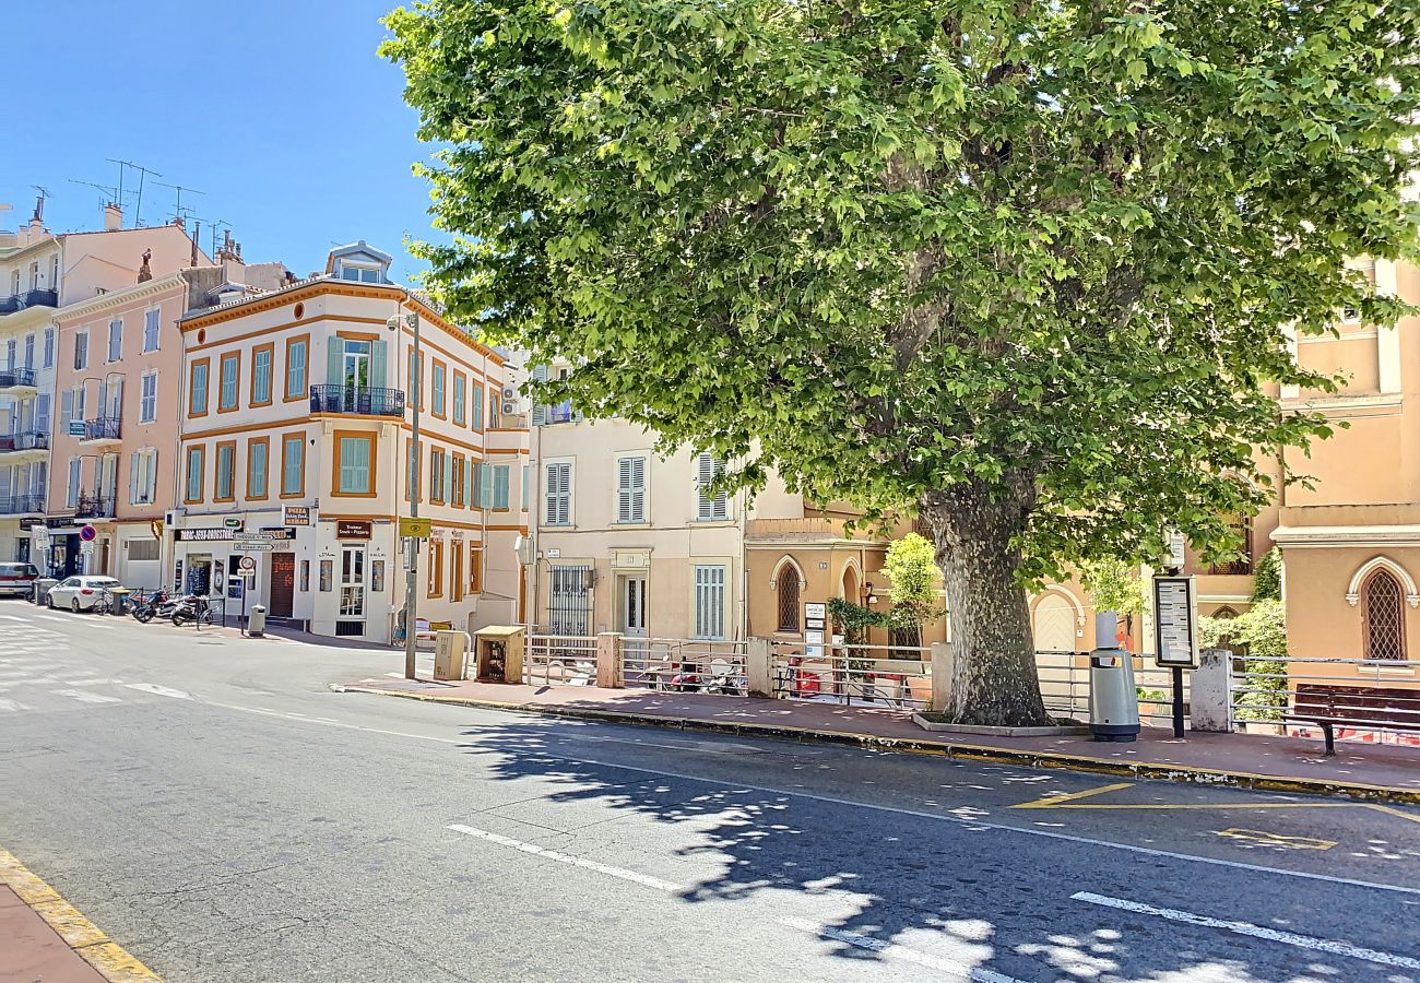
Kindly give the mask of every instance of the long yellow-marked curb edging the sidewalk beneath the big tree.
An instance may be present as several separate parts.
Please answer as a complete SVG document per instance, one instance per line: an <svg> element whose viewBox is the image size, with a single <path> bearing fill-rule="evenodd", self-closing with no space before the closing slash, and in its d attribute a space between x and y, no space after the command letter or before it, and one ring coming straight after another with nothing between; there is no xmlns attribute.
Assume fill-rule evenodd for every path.
<svg viewBox="0 0 1420 983"><path fill-rule="evenodd" d="M1127 778L1149 778L1153 781L1180 781L1196 786L1218 786L1224 788L1250 788L1257 791L1291 793L1298 795L1332 795L1369 803L1394 803L1399 805L1420 805L1420 788L1396 788L1392 786L1370 786L1360 781L1329 781L1323 778L1287 778L1251 771L1225 771L1221 769L1198 769L1187 764L1160 761L1116 761L1112 759L1061 754L1055 751L1017 751L1008 747L981 747L978 744L954 744L939 740L913 740L903 737L880 737L843 730L814 730L812 727L791 727L772 723L730 723L726 720L692 720L659 713L630 713L625 710L594 710L588 707L551 706L544 703L508 703L501 700L479 700L466 696L437 696L433 693L409 693L393 689L371 689L365 686L342 686L331 683L335 693L371 693L373 696L396 696L425 703L449 703L480 710L506 710L511 713L535 713L548 717L572 720L599 720L639 727L663 727L670 730L701 730L741 737L780 737L784 740L812 742L818 744L848 744L879 751L905 751L909 754L932 754L963 761L991 761L1014 764L1024 769L1059 769L1088 774L1123 776Z"/></svg>

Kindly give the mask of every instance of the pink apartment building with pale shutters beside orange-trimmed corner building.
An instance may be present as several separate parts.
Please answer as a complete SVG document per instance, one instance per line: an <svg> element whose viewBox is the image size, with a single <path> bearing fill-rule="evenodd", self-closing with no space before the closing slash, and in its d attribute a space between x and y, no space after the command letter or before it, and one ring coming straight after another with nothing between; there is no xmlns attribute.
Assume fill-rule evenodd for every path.
<svg viewBox="0 0 1420 983"><path fill-rule="evenodd" d="M57 425L50 487L57 568L108 574L128 587L163 582L162 524L175 500L182 408L180 320L287 278L280 263L216 266L99 294L57 313ZM80 523L98 536L88 563Z"/></svg>

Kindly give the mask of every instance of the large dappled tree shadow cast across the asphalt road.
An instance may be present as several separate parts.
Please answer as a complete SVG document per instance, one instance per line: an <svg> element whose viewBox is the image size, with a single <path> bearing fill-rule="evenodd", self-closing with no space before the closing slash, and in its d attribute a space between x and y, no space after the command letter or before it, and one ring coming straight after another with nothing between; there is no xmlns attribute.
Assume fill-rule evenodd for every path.
<svg viewBox="0 0 1420 983"><path fill-rule="evenodd" d="M761 777L754 787L717 777L733 776L733 763L714 769L684 761L667 766L670 771L707 776L690 778L652 773L655 760L636 766L643 771L581 760L598 756L598 733L605 730L596 724L528 720L466 730L469 743L462 750L497 780L541 786L537 798L548 810L540 811L540 821L555 820L559 805L579 803L628 814L628 822L615 824L615 835L622 840L598 847L578 835L577 822L585 822L585 810L571 808L568 817L577 822L565 830L568 837L561 842L548 838L542 845L616 864L621 861L608 857L611 847L646 844L642 872L683 885L677 892L683 902L754 898L774 911L787 933L816 935L843 960L900 962L909 970L916 963L916 972L926 967L939 974L946 967L970 969L977 972L976 979L1003 983L1242 983L1281 979L1279 967L1288 965L1287 977L1302 973L1306 979L1360 979L1380 970L1356 959L1071 898L1089 891L1237 918L1210 911L1207 891L1183 884L1204 879L1200 872L1214 884L1241 876L1230 871L1200 871L1164 857L1038 840L976 824L970 814L929 818L832 801L831 794L814 798L767 791L764 786L771 781L792 786L804 780L790 764L777 778ZM764 742L746 750L746 759L795 753L794 744L782 747L774 750ZM500 817L498 807L480 815L518 822ZM663 828L638 825L632 815L676 828L667 835ZM639 830L653 835L638 838ZM530 840L537 841L535 834ZM655 844L667 841L677 844L673 858L655 855ZM1140 894L1142 885L1149 894ZM1335 886L1326 884L1291 884L1285 894L1269 899L1267 909L1272 916L1268 923L1282 930L1292 923L1302 928L1289 930L1305 933L1306 923L1316 923L1306 918L1309 912L1336 903L1328 898Z"/></svg>

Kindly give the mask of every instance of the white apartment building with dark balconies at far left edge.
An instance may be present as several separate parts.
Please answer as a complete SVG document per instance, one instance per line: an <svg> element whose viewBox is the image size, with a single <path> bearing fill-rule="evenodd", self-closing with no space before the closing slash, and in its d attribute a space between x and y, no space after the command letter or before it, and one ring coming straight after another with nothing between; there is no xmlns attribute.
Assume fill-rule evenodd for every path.
<svg viewBox="0 0 1420 983"><path fill-rule="evenodd" d="M124 229L122 212L109 205L102 230L54 233L43 207L41 199L18 232L0 232L0 560L57 561L72 572L74 554L61 545L51 557L33 555L28 536L44 521L53 484L55 315L139 277L207 260L182 226Z"/></svg>

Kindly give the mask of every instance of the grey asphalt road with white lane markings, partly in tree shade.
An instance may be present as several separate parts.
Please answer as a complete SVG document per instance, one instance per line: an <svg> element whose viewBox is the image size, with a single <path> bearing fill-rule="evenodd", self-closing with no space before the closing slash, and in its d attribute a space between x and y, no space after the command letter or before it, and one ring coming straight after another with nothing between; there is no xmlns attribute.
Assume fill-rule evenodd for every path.
<svg viewBox="0 0 1420 983"><path fill-rule="evenodd" d="M0 602L0 847L169 980L1420 980L1420 810L328 689L400 666Z"/></svg>

